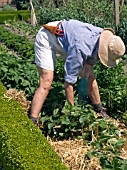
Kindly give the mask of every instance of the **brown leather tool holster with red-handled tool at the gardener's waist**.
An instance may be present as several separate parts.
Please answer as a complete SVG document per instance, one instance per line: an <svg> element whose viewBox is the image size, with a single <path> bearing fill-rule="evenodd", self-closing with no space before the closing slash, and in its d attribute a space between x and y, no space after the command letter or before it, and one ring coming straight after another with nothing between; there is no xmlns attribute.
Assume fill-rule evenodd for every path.
<svg viewBox="0 0 127 170"><path fill-rule="evenodd" d="M59 22L56 26L50 26L50 25L44 24L43 27L47 29L49 32L51 32L53 35L64 36L64 31L59 29L60 24L61 22Z"/></svg>

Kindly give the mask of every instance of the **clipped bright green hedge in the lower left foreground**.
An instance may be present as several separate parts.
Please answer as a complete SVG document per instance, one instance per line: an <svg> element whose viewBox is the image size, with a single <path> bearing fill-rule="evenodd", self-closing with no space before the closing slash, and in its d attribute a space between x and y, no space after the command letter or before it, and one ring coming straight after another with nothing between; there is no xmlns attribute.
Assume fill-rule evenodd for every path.
<svg viewBox="0 0 127 170"><path fill-rule="evenodd" d="M5 99L0 82L0 167L3 170L67 170L20 104Z"/></svg>

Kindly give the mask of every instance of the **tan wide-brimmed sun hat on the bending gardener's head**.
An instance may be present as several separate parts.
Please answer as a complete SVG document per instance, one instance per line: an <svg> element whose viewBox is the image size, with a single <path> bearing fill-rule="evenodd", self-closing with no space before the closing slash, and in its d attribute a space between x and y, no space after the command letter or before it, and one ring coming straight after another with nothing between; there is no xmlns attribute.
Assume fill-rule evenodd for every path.
<svg viewBox="0 0 127 170"><path fill-rule="evenodd" d="M103 29L99 39L98 56L103 65L115 67L125 53L125 45L111 28Z"/></svg>

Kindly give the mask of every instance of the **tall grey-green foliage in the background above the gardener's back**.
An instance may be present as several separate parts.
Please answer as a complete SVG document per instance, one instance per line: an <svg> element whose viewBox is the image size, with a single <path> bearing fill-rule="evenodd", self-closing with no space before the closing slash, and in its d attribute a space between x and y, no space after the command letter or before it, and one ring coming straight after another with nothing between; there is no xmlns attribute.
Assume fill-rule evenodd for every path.
<svg viewBox="0 0 127 170"><path fill-rule="evenodd" d="M46 2L47 5L45 5ZM116 33L121 36L127 47L127 2L125 0L120 1L120 24L117 28L115 28L113 0L60 1L59 7L54 5L54 1L43 1L41 4L42 6L35 5L38 10L39 24L42 25L54 20L78 19L102 28L111 27L117 31Z"/></svg>

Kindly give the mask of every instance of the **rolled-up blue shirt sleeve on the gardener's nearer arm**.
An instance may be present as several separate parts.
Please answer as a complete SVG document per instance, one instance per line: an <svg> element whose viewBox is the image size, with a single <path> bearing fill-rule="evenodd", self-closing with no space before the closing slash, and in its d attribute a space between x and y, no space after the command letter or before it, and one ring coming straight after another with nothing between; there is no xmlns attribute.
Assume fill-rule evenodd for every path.
<svg viewBox="0 0 127 170"><path fill-rule="evenodd" d="M81 52L77 50L75 46L73 46L73 48L71 48L67 53L67 58L64 65L65 81L70 84L76 83L77 77L82 69L82 65L83 58Z"/></svg>

